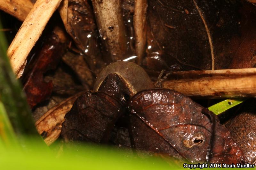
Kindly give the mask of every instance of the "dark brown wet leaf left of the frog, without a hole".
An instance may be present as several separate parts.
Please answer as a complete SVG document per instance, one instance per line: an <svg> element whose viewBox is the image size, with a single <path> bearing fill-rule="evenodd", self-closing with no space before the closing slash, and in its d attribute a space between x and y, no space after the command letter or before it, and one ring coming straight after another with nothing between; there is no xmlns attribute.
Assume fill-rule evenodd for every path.
<svg viewBox="0 0 256 170"><path fill-rule="evenodd" d="M90 91L80 96L65 115L61 135L65 141L108 142L122 105L103 92Z"/></svg>

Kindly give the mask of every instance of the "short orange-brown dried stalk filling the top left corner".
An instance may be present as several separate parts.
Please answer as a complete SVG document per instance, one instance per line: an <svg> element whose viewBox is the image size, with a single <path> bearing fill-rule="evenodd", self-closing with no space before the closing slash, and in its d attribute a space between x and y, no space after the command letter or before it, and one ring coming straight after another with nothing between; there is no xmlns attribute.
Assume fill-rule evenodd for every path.
<svg viewBox="0 0 256 170"><path fill-rule="evenodd" d="M11 14L20 21L24 21L29 11L32 9L33 4L30 0L1 0L0 10Z"/></svg>

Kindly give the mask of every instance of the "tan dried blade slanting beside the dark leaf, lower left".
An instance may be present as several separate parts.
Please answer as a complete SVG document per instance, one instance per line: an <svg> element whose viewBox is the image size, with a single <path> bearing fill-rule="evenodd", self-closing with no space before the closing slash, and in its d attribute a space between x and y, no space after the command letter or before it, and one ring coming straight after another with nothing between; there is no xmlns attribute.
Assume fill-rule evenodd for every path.
<svg viewBox="0 0 256 170"><path fill-rule="evenodd" d="M62 101L57 106L48 110L37 122L36 129L44 138L44 142L49 146L60 136L61 124L64 122L64 116L69 112L76 99L84 92Z"/></svg>

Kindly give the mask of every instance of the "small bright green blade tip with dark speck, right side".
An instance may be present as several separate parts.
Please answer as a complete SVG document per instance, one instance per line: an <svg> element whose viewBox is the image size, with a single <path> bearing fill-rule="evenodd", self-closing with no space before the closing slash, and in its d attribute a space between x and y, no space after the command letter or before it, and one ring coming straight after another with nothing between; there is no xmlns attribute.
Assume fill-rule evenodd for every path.
<svg viewBox="0 0 256 170"><path fill-rule="evenodd" d="M240 98L240 99L227 99L224 101L221 101L215 105L212 105L211 107L208 107L210 111L215 113L216 115L219 115L220 113L230 109L231 107L234 107L240 103L243 103L246 100L246 98Z"/></svg>

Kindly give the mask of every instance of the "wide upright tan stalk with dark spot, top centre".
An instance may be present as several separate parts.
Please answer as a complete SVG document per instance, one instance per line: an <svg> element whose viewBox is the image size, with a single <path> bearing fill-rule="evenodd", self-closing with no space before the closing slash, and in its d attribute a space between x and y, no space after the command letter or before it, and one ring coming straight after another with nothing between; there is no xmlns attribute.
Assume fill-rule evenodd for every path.
<svg viewBox="0 0 256 170"><path fill-rule="evenodd" d="M128 38L120 0L92 0L97 25L112 61L124 59Z"/></svg>

